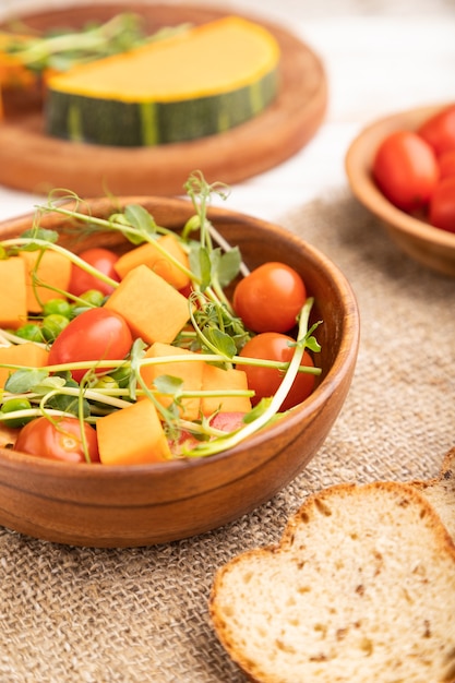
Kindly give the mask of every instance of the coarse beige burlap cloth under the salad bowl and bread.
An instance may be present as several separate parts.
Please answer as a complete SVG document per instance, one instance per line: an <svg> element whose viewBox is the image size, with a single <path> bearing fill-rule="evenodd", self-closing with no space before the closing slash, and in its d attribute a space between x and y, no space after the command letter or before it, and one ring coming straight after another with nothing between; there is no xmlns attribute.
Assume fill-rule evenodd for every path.
<svg viewBox="0 0 455 683"><path fill-rule="evenodd" d="M1 529L1 683L244 682L208 620L217 567L277 541L309 493L431 477L455 445L455 279L403 255L345 189L280 223L337 263L361 312L357 371L324 446L270 503L199 538L93 550Z"/></svg>

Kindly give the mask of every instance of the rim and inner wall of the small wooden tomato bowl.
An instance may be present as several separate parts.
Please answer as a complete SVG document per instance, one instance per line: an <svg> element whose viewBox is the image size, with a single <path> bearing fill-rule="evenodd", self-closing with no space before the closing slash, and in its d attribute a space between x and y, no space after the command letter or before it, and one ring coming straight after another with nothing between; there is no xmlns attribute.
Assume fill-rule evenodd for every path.
<svg viewBox="0 0 455 683"><path fill-rule="evenodd" d="M381 139L393 130L414 130L421 121L448 104L452 103L407 109L370 123L351 142L346 154L345 168L357 199L393 230L405 232L428 244L455 250L455 233L435 228L394 206L382 194L371 176L371 161L374 153L372 143L379 144Z"/></svg>

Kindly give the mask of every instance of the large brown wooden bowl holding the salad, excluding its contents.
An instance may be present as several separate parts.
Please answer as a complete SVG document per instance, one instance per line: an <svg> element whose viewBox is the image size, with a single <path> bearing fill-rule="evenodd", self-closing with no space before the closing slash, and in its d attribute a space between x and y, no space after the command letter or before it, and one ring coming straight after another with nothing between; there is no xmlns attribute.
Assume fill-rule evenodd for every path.
<svg viewBox="0 0 455 683"><path fill-rule="evenodd" d="M129 197L156 221L179 229L193 214L178 199ZM89 202L107 216L109 200ZM50 541L88 547L136 547L194 536L231 522L268 501L308 464L327 436L349 390L359 344L359 313L351 288L338 268L288 231L224 208L208 217L255 267L283 261L304 277L314 296L323 369L313 394L279 423L230 452L208 458L144 466L70 465L0 448L0 524ZM0 224L0 238L27 229L33 216ZM49 214L43 225L63 218ZM96 242L94 242L96 240ZM62 240L63 243L63 240ZM123 249L120 236L85 239ZM77 250L74 250L77 251Z"/></svg>

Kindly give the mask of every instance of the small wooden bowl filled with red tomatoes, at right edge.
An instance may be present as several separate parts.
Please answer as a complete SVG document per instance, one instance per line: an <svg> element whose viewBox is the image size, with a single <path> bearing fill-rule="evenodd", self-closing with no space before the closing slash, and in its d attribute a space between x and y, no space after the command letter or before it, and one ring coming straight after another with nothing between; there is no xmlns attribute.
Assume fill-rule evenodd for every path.
<svg viewBox="0 0 455 683"><path fill-rule="evenodd" d="M351 143L346 172L356 197L406 254L455 276L455 104L372 123Z"/></svg>

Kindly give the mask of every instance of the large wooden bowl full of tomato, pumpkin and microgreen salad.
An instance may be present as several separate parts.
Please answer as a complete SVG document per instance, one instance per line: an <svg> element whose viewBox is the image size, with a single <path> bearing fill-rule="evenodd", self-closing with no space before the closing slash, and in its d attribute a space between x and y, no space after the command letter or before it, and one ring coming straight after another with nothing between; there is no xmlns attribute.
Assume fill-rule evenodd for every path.
<svg viewBox="0 0 455 683"><path fill-rule="evenodd" d="M193 173L189 200L49 197L0 226L2 525L184 538L270 500L324 442L356 299L296 236L211 207L224 190Z"/></svg>

